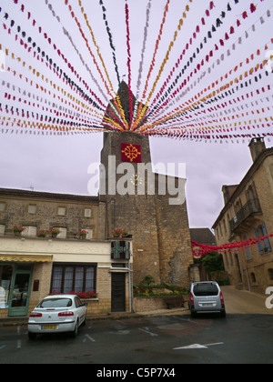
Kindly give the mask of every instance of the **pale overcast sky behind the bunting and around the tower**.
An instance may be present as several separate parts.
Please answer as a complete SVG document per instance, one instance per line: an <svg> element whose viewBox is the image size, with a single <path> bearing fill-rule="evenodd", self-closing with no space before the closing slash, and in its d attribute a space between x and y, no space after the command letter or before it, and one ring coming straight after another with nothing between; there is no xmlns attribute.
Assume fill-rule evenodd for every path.
<svg viewBox="0 0 273 382"><path fill-rule="evenodd" d="M78 78L68 68L67 62L65 63L61 56L56 53L56 49L53 47L53 44L56 44L66 56L68 63L73 65L78 75L85 80L88 89L92 90L93 98L96 95L96 99L100 100L103 105L107 104L107 101L113 95L111 85L114 92L117 91L116 70L120 78L124 79L126 83L130 81L132 92L137 95L137 99L142 98L146 85L147 95L150 94L153 85L155 85L155 92L151 97L151 100L153 100L161 86L167 81L171 71L175 75L172 76L169 85L184 65L189 64L187 72L185 71L185 77L183 77L187 78L190 71L197 67L197 63L213 50L213 58L208 63L205 60L202 69L197 70L197 73L192 75L187 84L188 88L183 88L176 96L169 98L170 105L168 104L168 108L162 108L161 110L159 109L160 104L158 109L161 111L157 116L151 117L151 122L155 121L160 115L165 116L168 112L174 113L176 107L185 105L184 103L188 99L204 89L207 90L208 86L216 83L217 80L220 83L222 78L221 83L226 84L229 79L233 79L239 74L243 75L246 71L249 73L249 68L260 63L268 55L270 49L273 52L273 46L270 43L273 0L263 2L260 0L256 2L240 0L238 4L235 4L234 0L229 2L218 0L213 2L215 6L212 9L210 9L211 2L203 0L193 0L192 2L152 0L150 7L148 7L148 0L104 0L103 5L100 4L99 0L70 0L67 5L65 0L51 0L51 2L50 0L28 0L27 2L18 0L17 4L15 3L13 0L0 0L0 7L2 8L0 13L0 44L2 45L2 52L8 49L8 56L5 55L4 60L5 70L0 71L0 103L2 103L2 111L0 110L1 187L88 195L87 185L90 180L88 166L100 161L100 151L103 146L103 134L101 132L86 133L86 131L77 131L78 134L65 135L52 131L51 134L48 132L47 135L43 135L37 128L11 126L11 122L8 126L5 125L7 119L4 118L11 116L11 107L14 107L14 110L16 107L19 110L24 109L25 113L29 111L30 114L33 112L34 115L38 113L39 115L53 117L56 116L53 111L57 111L57 105L58 108L61 106L62 110L67 108L70 113L78 113L76 115L78 117L87 117L87 113L83 114L81 111L76 110L75 106L78 106L78 104L75 101L73 102L74 107L68 105L69 100L62 93L62 89L66 91L66 94L69 92L75 99L79 99L79 97L76 98L76 93L73 93L71 88L59 79L53 70L46 67L45 62L42 63L41 59L37 60L37 55L34 57L33 52L36 46L41 47L41 52L44 51L45 55L51 57L59 68L62 68L64 72L66 71L69 78L79 84ZM130 33L129 66L127 61L126 4L129 10L127 24ZM162 34L158 39L167 4L168 9L162 26ZM227 10L228 4L231 7L229 11ZM250 5L252 4L257 7L253 13L250 11ZM22 8L22 5L24 5L24 8ZM69 5L71 5L71 11L68 8ZM186 5L189 5L188 11ZM105 7L105 19L103 18L102 6ZM86 19L92 28L93 38L90 29L86 25L86 19L82 15L81 7L84 8ZM22 9L24 9L24 12L22 12ZM206 10L209 10L209 15L206 14ZM246 18L242 17L244 11L247 11L248 14ZM74 12L79 24L76 24L75 18L71 17L71 12ZM225 16L223 16L222 12L225 12ZM183 13L186 17L183 16ZM148 24L147 15L149 15ZM217 30L212 33L212 38L207 38L205 42L204 38L207 37L207 31L211 30L212 25L216 25L219 15L221 15L220 20L223 25L217 27ZM261 22L260 17L263 17L264 23ZM177 29L181 18L183 18L183 25L181 25L180 29ZM206 25L201 23L202 18L204 18ZM15 22L12 27L10 27L11 20ZM33 20L35 20L35 25L33 25ZM237 20L240 20L241 25L237 26ZM2 23L7 27L5 28ZM115 45L116 66L113 60L114 51L110 46L111 41L106 33L106 23L110 27L112 43ZM15 29L18 25L21 27L20 33L17 33ZM42 27L42 33L39 33L39 25ZM88 37L87 40L83 38L79 25ZM192 39L192 44L188 45L183 59L176 66L177 58L185 49L193 33L196 32L197 25L200 27L197 38ZM146 30L145 26L147 26ZM235 29L234 34L230 34L231 26ZM8 28L10 28L10 34ZM173 48L167 55L176 30L178 31L177 38ZM22 31L25 32L25 37L22 36ZM64 31L66 31L66 34ZM227 40L225 39L226 33L228 33ZM46 34L46 39L44 34ZM15 35L19 36L17 40L15 40ZM68 38L68 35L70 38ZM31 43L35 42L36 46L31 52L28 52L24 44L27 43L27 47L31 45L27 41L27 37L30 36ZM50 44L48 37L51 38ZM240 38L241 42L239 43ZM224 46L220 45L219 39L223 39ZM199 49L200 53L197 54L197 47L200 44L203 44L205 48L203 51ZM218 47L217 50L215 45ZM265 45L267 46L265 47ZM155 55L156 46L158 48ZM256 55L258 49L260 55ZM15 54L15 59L12 59L12 52ZM101 55L102 60L99 59L98 53ZM197 58L191 62L190 57L194 53L196 53ZM250 60L250 64L247 64L246 60L252 54L254 58L252 61ZM3 62L3 56L2 53L0 55L0 66L1 57ZM143 61L141 57L143 57ZM160 72L166 57L167 61ZM22 65L23 63L25 65ZM85 63L85 66L83 63ZM240 63L243 64L240 65ZM239 67L238 71L229 75L229 71L234 69L236 65ZM12 72L7 70L8 67L11 67ZM99 68L102 75L100 75L97 68ZM173 68L175 69L172 70ZM39 73L39 76L37 76L37 73ZM111 85L107 81L106 74ZM268 85L272 85L272 80L265 75L265 70L258 71L258 74L262 75L261 79L258 78L258 81L256 81L253 78L254 75L252 75L252 83L248 83L248 87L239 88L236 95L225 95L221 101L217 101L213 105L206 105L204 118L188 112L187 116L190 115L189 123L191 125L187 126L187 134L193 132L193 134L197 135L198 123L207 122L207 126L216 126L219 122L215 121L219 121L220 118L223 119L224 117L226 117L225 124L234 124L234 121L236 121L237 123L241 122L244 126L246 120L251 118L252 121L254 118L261 117L258 116L257 110L260 112L262 108L267 109L267 114L262 114L262 117L272 116L270 110L272 107L272 92L270 90L249 98L247 96L257 88L266 88ZM42 80L42 75L44 75L44 79L48 79L47 83ZM228 77L226 82L223 81L225 75ZM249 77L250 75L248 79ZM33 80L32 83L31 80ZM56 84L55 89L53 85L50 85L50 81L52 81L53 85ZM46 94L41 92L41 87L38 88L35 84L44 85L47 89L51 89L50 95L48 92ZM87 94L89 90L87 90L85 84L81 82L80 88ZM105 84L108 85L110 94L107 93ZM57 86L59 86L59 89L57 89ZM185 94L183 93L184 90ZM209 94L210 91L211 89L207 90L207 92L204 90L204 95ZM9 99L8 95L10 95ZM54 95L59 95L60 99L57 99ZM147 100L147 95L143 98L144 101ZM237 100L237 97L240 102L222 107L223 102L228 102L231 99ZM20 98L21 100L19 100ZM67 103L65 103L65 100ZM6 113L5 106L8 107L9 114ZM218 110L208 110L212 106L219 106ZM60 110L59 108L58 111ZM86 108L86 110L89 109ZM252 111L254 113L250 116ZM237 114L238 117L232 119L232 116ZM98 115L99 113L91 113L88 118L90 118L90 121L96 121L97 125L97 121L99 121ZM20 119L31 121L31 118L27 119L22 116ZM200 136L192 138L187 136L187 139L177 139L176 136L172 136L172 133L177 131L177 126L183 126L186 122L188 122L187 118L182 118L179 122L176 121L173 127L168 128L167 124L163 126L162 131L170 133L167 137L150 136L152 162L153 164L163 162L176 165L186 163L189 226L210 228L224 206L221 187L223 185L238 184L252 164L248 149L249 140L241 136L229 136L226 139L220 139L219 137L205 139ZM244 131L239 128L235 130L235 126L232 125L234 134L246 133L246 129ZM258 127L260 126L258 122L252 123L251 126L250 132L254 133L270 132L270 129L272 129L272 126L267 128ZM219 135L221 135L221 132L217 134L217 136ZM267 147L272 146L272 139L270 136L265 138Z"/></svg>

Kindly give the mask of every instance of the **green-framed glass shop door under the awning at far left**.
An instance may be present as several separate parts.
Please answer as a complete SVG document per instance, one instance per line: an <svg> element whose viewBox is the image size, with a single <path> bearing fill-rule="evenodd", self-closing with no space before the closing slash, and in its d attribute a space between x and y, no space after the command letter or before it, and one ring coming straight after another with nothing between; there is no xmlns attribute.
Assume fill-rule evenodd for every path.
<svg viewBox="0 0 273 382"><path fill-rule="evenodd" d="M27 316L31 276L32 266L16 266L9 297L8 316Z"/></svg>

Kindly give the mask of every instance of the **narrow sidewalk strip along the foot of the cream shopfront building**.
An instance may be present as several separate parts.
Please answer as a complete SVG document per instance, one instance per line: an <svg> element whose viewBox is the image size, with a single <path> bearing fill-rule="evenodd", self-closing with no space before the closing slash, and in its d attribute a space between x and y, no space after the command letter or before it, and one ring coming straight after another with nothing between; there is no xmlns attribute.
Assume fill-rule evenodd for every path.
<svg viewBox="0 0 273 382"><path fill-rule="evenodd" d="M126 319L137 317L153 317L153 316L170 316L190 314L187 307L174 307L172 309L160 309L149 312L120 312L120 313L106 313L103 315L96 315L94 317L87 317L87 321L97 321L102 319ZM5 317L0 318L0 327L13 327L18 325L27 325L28 317Z"/></svg>

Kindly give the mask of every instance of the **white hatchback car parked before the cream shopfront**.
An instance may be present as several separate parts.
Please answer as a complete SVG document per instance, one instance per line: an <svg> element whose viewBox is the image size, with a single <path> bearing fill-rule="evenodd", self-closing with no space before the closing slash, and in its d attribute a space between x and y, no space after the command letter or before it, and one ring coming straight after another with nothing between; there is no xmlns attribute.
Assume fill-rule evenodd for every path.
<svg viewBox="0 0 273 382"><path fill-rule="evenodd" d="M78 328L86 324L86 305L75 295L45 297L29 315L28 337L60 332L76 337Z"/></svg>

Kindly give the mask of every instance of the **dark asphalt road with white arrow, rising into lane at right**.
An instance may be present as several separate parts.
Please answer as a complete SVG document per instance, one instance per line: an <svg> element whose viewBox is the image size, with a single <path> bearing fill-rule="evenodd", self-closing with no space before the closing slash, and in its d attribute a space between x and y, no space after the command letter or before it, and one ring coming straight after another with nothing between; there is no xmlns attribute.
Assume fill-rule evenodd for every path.
<svg viewBox="0 0 273 382"><path fill-rule="evenodd" d="M273 359L273 309L259 297L231 286L223 288L227 318L188 311L174 315L97 320L67 335L39 336L29 341L26 327L0 328L0 364L89 364L92 377L108 369L175 367L185 377L185 364L269 364ZM137 368L138 367L138 368ZM137 369L139 375L137 376ZM88 375L89 375L88 374Z"/></svg>

